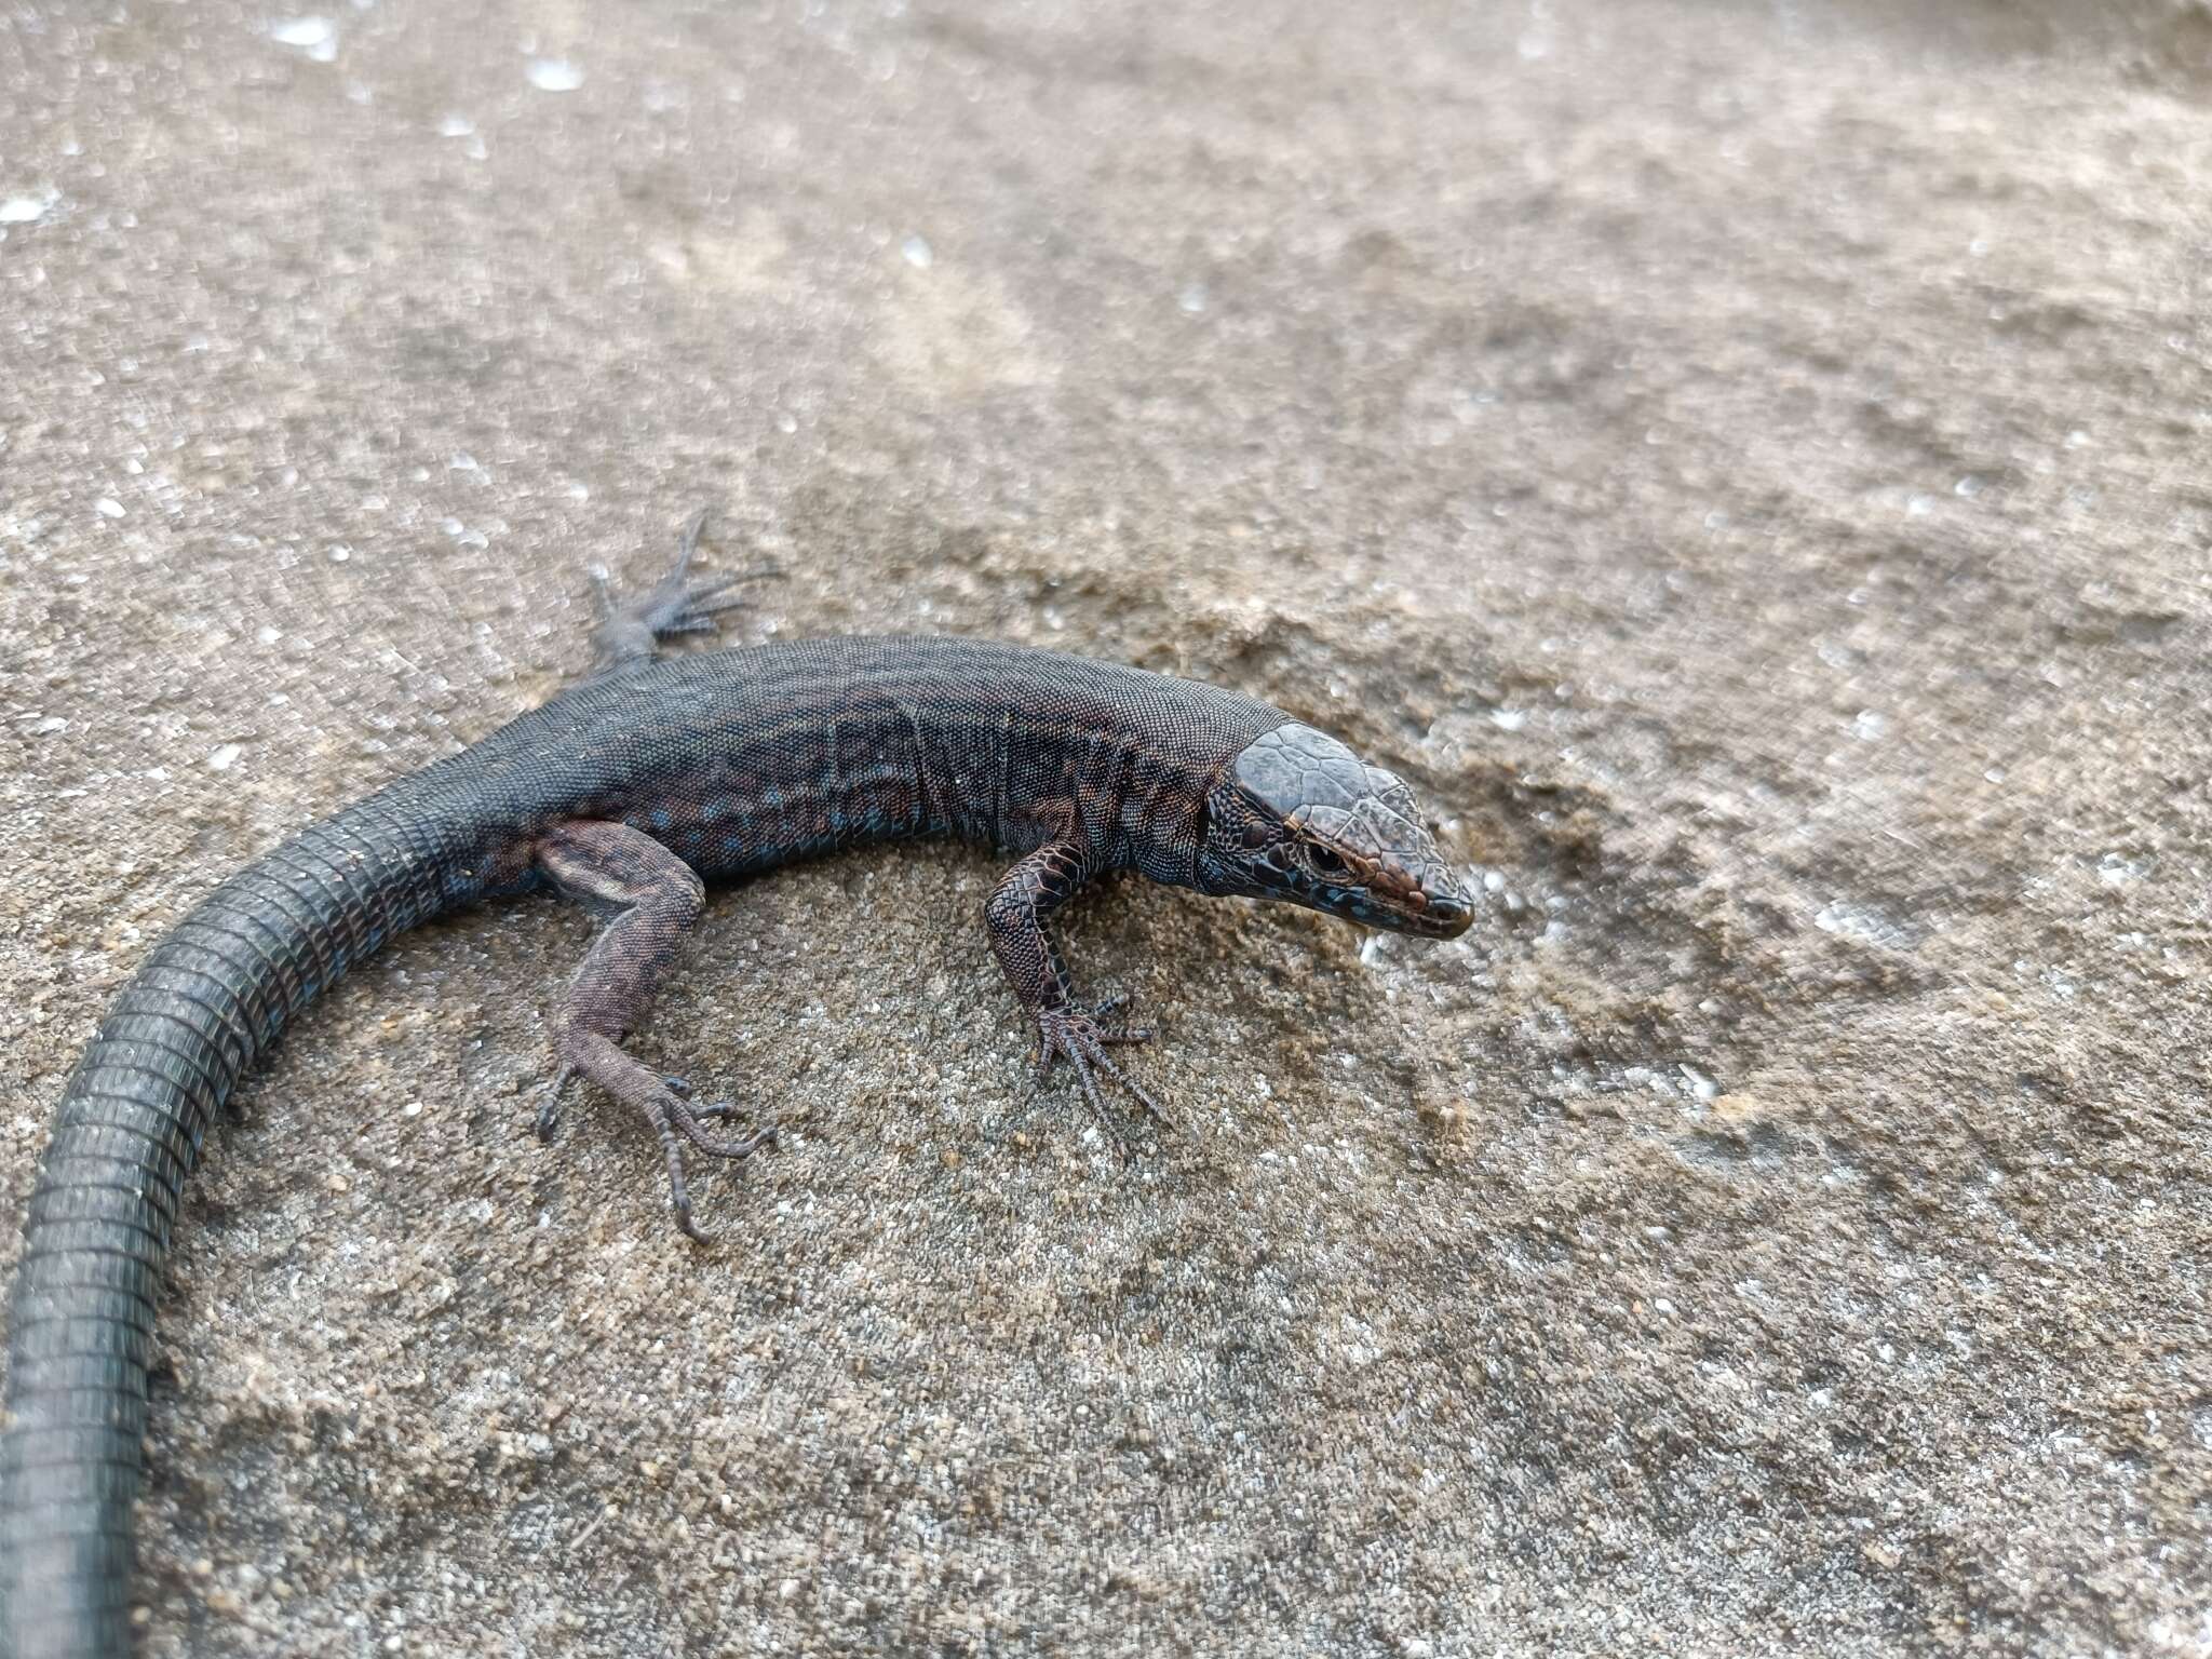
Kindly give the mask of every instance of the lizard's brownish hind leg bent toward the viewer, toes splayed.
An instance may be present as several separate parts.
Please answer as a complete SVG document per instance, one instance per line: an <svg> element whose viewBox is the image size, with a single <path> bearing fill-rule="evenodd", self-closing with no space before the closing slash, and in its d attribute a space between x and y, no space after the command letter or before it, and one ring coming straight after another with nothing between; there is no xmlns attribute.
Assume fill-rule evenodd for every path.
<svg viewBox="0 0 2212 1659"><path fill-rule="evenodd" d="M624 1053L622 1040L653 1006L661 975L699 918L706 887L668 847L622 823L564 823L540 838L538 865L562 894L606 918L562 1004L560 1075L538 1115L538 1133L551 1137L560 1093L577 1075L641 1113L668 1161L668 1203L677 1225L703 1243L706 1234L690 1219L684 1144L710 1157L748 1157L776 1130L759 1128L741 1139L710 1135L703 1119L728 1117L732 1108L695 1108L690 1088L641 1066Z"/></svg>

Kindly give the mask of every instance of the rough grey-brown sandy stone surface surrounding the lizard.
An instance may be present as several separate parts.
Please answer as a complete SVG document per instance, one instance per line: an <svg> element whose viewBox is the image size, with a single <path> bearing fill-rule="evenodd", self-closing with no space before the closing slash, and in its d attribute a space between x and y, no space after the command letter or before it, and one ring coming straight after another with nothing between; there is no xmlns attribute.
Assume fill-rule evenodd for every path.
<svg viewBox="0 0 2212 1659"><path fill-rule="evenodd" d="M272 24L279 31L272 33ZM1214 677L1458 945L1117 887L1133 1177L989 858L427 929L181 1228L146 1650L2212 1650L2212 13L518 0L0 13L0 1179L226 872L745 637ZM551 91L582 75L568 91ZM9 1230L11 1232L11 1230ZM7 1245L13 1250L13 1245Z"/></svg>

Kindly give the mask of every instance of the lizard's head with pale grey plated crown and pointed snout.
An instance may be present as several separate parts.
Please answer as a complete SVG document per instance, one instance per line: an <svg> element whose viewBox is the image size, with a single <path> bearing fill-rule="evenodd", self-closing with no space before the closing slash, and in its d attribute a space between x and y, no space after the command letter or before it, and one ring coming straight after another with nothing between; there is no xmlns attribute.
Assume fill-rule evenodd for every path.
<svg viewBox="0 0 2212 1659"><path fill-rule="evenodd" d="M1298 723L1252 739L1206 796L1199 885L1429 938L1455 938L1475 918L1413 792Z"/></svg>

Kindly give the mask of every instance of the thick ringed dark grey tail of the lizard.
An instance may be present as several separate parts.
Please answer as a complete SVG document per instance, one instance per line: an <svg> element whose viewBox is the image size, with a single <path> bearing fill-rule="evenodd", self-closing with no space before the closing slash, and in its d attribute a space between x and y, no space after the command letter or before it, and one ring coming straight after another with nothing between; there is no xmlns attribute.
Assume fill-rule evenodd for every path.
<svg viewBox="0 0 2212 1659"><path fill-rule="evenodd" d="M153 1307L208 1121L285 1020L482 880L403 781L217 887L115 998L62 1093L9 1305L0 1659L128 1652ZM407 810L411 807L411 810Z"/></svg>

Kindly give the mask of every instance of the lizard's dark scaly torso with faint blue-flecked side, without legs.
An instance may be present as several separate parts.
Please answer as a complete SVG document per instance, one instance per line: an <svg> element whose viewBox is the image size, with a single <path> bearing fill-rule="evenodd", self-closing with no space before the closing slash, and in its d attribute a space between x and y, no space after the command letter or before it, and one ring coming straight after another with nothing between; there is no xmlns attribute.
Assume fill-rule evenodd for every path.
<svg viewBox="0 0 2212 1659"><path fill-rule="evenodd" d="M706 876L905 836L1062 834L1186 880L1206 792L1285 714L1144 668L984 639L803 639L659 661L456 757L456 805L529 834L630 823Z"/></svg>

